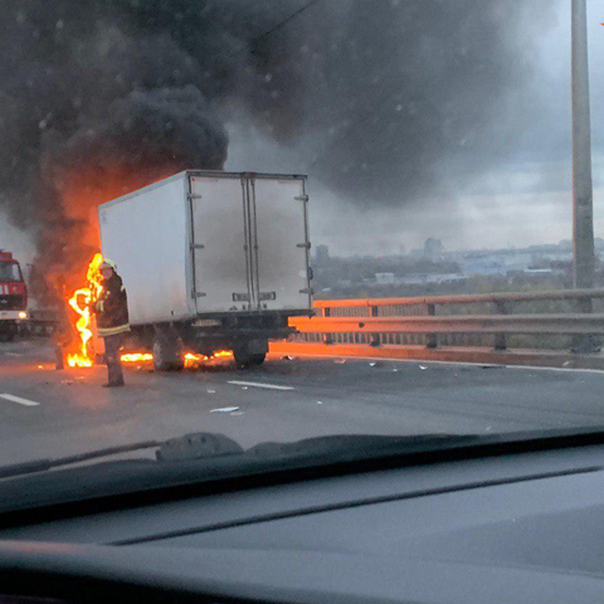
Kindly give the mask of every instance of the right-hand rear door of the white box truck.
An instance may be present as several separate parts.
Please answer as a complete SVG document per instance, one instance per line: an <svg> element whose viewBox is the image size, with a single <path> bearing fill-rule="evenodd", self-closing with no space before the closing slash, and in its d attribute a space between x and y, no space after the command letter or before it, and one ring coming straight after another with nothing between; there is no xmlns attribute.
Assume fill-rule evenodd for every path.
<svg viewBox="0 0 604 604"><path fill-rule="evenodd" d="M248 179L252 231L252 293L258 309L310 307L309 241L304 178Z"/></svg>

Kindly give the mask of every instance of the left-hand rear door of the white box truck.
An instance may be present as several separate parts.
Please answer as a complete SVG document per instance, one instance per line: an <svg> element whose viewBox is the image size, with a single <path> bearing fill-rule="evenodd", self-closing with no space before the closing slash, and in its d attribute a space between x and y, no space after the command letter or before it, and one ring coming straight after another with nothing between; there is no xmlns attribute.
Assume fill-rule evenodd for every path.
<svg viewBox="0 0 604 604"><path fill-rule="evenodd" d="M239 175L191 175L189 189L197 312L248 310L245 181Z"/></svg>

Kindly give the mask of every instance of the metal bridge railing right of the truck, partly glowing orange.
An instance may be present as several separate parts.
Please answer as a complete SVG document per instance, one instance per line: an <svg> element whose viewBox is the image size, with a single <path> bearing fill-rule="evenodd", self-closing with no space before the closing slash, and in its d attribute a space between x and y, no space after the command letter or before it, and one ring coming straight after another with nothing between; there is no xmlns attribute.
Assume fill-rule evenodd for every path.
<svg viewBox="0 0 604 604"><path fill-rule="evenodd" d="M604 288L317 300L314 307L315 316L290 320L299 332L294 341L564 349L577 338L604 335ZM510 339L519 335L524 339ZM544 336L554 339L543 345Z"/></svg>

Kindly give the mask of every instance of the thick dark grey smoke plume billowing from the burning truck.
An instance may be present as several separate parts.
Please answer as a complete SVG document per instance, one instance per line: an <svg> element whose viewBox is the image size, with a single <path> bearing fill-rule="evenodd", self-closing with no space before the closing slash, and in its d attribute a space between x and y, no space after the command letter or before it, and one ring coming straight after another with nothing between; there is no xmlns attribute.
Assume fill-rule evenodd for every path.
<svg viewBox="0 0 604 604"><path fill-rule="evenodd" d="M229 120L300 147L301 170L356 204L463 188L529 118L531 40L550 4L526 4L7 0L2 207L36 233L41 262L68 269L89 250L66 243L83 230L66 181L219 169Z"/></svg>

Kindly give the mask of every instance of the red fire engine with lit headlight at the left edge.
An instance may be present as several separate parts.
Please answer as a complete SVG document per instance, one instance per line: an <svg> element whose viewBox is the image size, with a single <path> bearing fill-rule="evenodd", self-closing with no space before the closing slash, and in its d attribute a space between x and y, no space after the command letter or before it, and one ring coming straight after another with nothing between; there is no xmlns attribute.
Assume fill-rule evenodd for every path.
<svg viewBox="0 0 604 604"><path fill-rule="evenodd" d="M0 339L13 339L27 318L27 286L21 266L11 252L0 249Z"/></svg>

